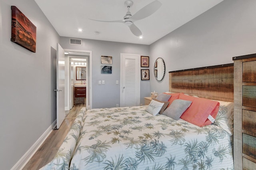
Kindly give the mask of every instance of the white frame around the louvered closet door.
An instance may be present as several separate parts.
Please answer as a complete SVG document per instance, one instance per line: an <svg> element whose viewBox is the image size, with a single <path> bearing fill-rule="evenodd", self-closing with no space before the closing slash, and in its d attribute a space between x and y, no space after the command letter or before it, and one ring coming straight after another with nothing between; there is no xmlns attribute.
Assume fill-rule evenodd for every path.
<svg viewBox="0 0 256 170"><path fill-rule="evenodd" d="M122 85L123 85L123 82L122 82L122 77L124 75L122 75L122 72L123 72L123 66L122 66L122 63L123 63L123 55L132 55L132 56L135 56L135 57L138 57L138 70L140 70L140 54L130 54L130 53L120 53L120 107L122 107L123 105L123 101L122 101ZM138 73L138 76L140 77L140 73ZM140 79L138 80L138 103L137 105L139 106L140 105Z"/></svg>

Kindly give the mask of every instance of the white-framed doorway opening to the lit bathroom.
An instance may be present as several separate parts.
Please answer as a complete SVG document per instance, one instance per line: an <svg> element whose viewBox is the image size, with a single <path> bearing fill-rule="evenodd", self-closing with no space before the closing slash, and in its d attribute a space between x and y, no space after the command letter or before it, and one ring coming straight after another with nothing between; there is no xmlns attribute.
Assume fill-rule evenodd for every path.
<svg viewBox="0 0 256 170"><path fill-rule="evenodd" d="M91 51L85 51L85 50L70 50L70 49L64 49L65 50L65 58L66 58L66 68L65 69L65 79L67 80L65 82L65 85L67 87L67 90L65 90L65 110L68 111L72 109L74 104L74 87L79 86L85 86L86 96L85 97L79 97L76 99L79 99L82 101L84 99L84 103L86 103L86 108L90 109L92 104L92 88L91 88L91 79L92 79L92 67L91 65L91 57L92 52ZM83 75L81 78L76 78L76 67L81 67L82 70L80 70L80 75ZM84 78L86 77L86 78ZM80 79L80 80L79 80ZM82 79L82 80L81 80ZM75 85L75 86L74 86ZM79 102L79 101L78 101Z"/></svg>

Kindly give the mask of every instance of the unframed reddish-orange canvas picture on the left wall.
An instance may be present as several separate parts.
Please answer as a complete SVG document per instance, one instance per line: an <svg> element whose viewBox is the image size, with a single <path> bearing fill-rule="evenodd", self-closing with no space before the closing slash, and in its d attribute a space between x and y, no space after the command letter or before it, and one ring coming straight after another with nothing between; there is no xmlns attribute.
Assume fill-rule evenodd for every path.
<svg viewBox="0 0 256 170"><path fill-rule="evenodd" d="M16 6L12 6L12 37L11 41L36 52L36 26L20 12Z"/></svg>

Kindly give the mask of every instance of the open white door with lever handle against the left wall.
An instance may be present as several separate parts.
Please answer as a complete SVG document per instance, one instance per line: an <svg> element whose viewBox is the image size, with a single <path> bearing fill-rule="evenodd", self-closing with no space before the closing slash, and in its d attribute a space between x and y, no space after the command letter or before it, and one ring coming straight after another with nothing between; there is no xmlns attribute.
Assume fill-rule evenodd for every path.
<svg viewBox="0 0 256 170"><path fill-rule="evenodd" d="M56 57L56 93L57 93L57 129L65 119L65 55L64 49L57 43Z"/></svg>

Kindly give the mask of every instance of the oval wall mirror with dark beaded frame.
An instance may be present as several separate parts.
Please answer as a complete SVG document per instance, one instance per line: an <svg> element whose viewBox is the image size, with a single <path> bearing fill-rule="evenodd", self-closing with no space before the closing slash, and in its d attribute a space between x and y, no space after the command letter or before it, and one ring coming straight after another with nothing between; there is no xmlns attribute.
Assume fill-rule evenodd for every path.
<svg viewBox="0 0 256 170"><path fill-rule="evenodd" d="M165 64L164 60L159 57L156 59L156 62L154 64L154 75L156 78L156 81L162 81L165 74Z"/></svg>

